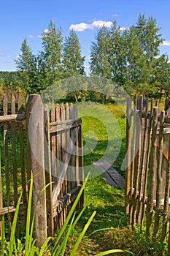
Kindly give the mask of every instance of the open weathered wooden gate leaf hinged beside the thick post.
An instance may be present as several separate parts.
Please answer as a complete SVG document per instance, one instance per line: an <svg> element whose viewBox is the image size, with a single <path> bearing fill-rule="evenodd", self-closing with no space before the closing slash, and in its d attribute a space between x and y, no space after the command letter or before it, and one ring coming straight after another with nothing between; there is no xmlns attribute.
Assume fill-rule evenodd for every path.
<svg viewBox="0 0 170 256"><path fill-rule="evenodd" d="M53 105L45 108L48 161L47 188L48 234L63 225L72 202L77 197L83 181L82 121L77 118L77 105ZM77 206L82 208L83 195ZM51 218L50 218L51 217Z"/></svg>

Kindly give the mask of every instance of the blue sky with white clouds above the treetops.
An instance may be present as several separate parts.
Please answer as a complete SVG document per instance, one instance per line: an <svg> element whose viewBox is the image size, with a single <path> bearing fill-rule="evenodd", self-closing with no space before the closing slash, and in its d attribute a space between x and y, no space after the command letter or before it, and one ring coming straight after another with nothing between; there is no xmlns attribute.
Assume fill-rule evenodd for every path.
<svg viewBox="0 0 170 256"><path fill-rule="evenodd" d="M104 22L110 26L117 20L118 26L127 28L136 23L140 14L156 18L164 40L161 53L167 53L170 59L169 0L6 0L1 1L0 7L1 71L15 70L14 60L25 37L34 54L42 50L41 34L50 20L57 28L61 26L64 37L69 35L70 28L77 31L87 72L90 45L98 26Z"/></svg>

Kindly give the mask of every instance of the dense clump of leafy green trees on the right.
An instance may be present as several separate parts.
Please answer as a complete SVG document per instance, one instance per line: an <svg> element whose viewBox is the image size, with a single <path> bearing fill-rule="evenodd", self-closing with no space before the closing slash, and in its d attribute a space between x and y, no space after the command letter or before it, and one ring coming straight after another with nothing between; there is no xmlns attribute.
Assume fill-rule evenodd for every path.
<svg viewBox="0 0 170 256"><path fill-rule="evenodd" d="M169 91L170 64L159 56L163 42L155 18L139 15L135 25L122 31L113 22L110 29L98 30L90 53L90 72L112 79L129 94L158 98Z"/></svg>

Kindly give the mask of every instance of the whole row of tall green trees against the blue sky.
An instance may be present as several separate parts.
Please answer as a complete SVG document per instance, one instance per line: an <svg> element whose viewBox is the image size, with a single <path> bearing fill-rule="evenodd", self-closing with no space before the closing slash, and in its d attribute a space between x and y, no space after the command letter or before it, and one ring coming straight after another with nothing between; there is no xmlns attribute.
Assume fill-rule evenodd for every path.
<svg viewBox="0 0 170 256"><path fill-rule="evenodd" d="M170 92L170 63L160 55L163 43L155 18L139 15L136 24L121 29L112 26L98 29L90 47L90 75L107 78L122 86L128 94L161 98ZM28 94L41 93L48 86L77 75L85 75L85 56L75 31L63 37L50 21L42 32L42 50L34 55L25 38L15 60L19 85ZM1 80L1 73L0 73Z"/></svg>

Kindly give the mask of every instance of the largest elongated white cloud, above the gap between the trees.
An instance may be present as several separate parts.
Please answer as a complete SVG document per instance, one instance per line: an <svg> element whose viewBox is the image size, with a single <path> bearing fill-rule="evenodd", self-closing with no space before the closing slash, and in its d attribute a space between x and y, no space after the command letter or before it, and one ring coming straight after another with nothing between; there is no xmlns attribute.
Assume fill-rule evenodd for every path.
<svg viewBox="0 0 170 256"><path fill-rule="evenodd" d="M85 31L86 29L94 29L94 28L101 28L105 26L110 28L112 26L112 21L104 21L104 20L94 20L92 23L77 23L72 24L69 29L74 31Z"/></svg>

